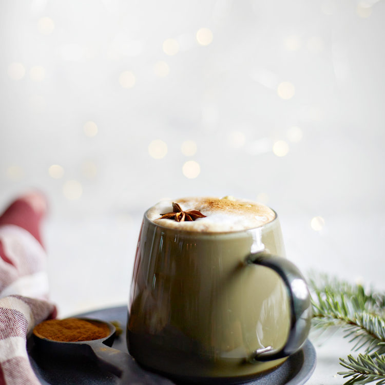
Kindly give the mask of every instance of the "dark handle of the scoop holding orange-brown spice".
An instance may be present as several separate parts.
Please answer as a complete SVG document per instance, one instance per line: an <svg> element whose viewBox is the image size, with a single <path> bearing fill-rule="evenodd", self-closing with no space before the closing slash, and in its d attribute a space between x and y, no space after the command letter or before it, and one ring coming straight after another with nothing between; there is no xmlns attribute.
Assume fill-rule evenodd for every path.
<svg viewBox="0 0 385 385"><path fill-rule="evenodd" d="M143 370L128 354L104 344L93 345L95 358L102 369L120 377L122 385L171 385L173 382L157 374Z"/></svg>

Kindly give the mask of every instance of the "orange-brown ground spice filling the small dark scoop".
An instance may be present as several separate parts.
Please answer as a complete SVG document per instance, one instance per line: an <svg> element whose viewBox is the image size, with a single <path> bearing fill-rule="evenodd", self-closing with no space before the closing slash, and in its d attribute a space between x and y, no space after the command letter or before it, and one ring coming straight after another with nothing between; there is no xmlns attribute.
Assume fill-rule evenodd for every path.
<svg viewBox="0 0 385 385"><path fill-rule="evenodd" d="M66 318L43 321L35 326L33 334L54 341L76 342L107 337L110 330L104 322Z"/></svg>

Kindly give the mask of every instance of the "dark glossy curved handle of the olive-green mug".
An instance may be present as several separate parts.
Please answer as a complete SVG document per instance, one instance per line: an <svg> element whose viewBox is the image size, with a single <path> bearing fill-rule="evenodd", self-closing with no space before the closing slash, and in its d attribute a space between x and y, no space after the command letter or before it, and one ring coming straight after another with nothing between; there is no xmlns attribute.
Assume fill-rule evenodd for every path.
<svg viewBox="0 0 385 385"><path fill-rule="evenodd" d="M247 263L273 269L285 283L290 302L290 328L283 347L257 349L249 361L271 361L290 356L302 347L311 326L312 305L306 281L297 266L286 258L261 252L249 255Z"/></svg>

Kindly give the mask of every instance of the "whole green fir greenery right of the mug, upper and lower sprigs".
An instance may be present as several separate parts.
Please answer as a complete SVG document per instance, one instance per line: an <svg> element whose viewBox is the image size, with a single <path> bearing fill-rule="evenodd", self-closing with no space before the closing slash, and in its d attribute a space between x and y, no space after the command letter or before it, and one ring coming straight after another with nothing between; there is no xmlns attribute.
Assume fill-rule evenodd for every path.
<svg viewBox="0 0 385 385"><path fill-rule="evenodd" d="M343 328L352 350L364 348L357 358L340 358L349 371L338 374L351 377L345 385L375 381L385 385L385 294L325 275L311 279L310 287L313 327L322 331Z"/></svg>

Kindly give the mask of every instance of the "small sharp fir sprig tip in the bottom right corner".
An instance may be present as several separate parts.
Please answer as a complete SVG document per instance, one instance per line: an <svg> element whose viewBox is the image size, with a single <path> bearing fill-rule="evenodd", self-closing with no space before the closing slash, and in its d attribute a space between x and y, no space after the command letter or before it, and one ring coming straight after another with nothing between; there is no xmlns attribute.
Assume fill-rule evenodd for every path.
<svg viewBox="0 0 385 385"><path fill-rule="evenodd" d="M358 385L377 381L377 385L385 384L385 357L377 353L372 358L369 355L352 355L348 359L340 358L340 364L349 369L348 372L338 372L343 378L351 377L344 385Z"/></svg>

